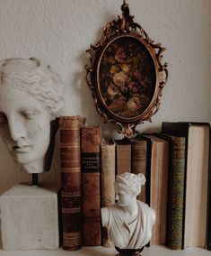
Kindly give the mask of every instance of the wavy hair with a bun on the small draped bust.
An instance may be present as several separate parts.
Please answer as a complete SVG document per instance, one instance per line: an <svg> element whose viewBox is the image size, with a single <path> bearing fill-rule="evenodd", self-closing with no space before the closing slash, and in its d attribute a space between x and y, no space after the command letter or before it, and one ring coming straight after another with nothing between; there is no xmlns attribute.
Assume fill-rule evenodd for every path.
<svg viewBox="0 0 211 256"><path fill-rule="evenodd" d="M131 196L137 196L141 193L141 186L145 185L145 175L143 173L125 172L117 175L114 187L116 192L123 192Z"/></svg>

